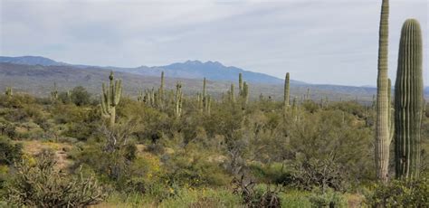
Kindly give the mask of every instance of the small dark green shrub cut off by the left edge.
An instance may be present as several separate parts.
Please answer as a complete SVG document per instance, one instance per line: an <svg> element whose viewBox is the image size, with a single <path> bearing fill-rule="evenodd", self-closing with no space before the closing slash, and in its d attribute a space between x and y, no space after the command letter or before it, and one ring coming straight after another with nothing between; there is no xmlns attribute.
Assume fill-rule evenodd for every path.
<svg viewBox="0 0 429 208"><path fill-rule="evenodd" d="M0 165L13 165L23 156L23 146L0 136Z"/></svg>

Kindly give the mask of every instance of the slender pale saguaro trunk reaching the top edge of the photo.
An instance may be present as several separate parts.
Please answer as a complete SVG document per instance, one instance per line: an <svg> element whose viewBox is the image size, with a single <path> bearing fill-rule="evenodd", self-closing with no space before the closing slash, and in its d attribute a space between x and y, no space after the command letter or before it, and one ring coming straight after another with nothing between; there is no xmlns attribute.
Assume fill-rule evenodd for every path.
<svg viewBox="0 0 429 208"><path fill-rule="evenodd" d="M389 100L387 78L389 1L381 5L379 41L378 41L378 75L377 75L377 120L376 120L376 172L377 179L386 183L389 164Z"/></svg>

